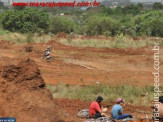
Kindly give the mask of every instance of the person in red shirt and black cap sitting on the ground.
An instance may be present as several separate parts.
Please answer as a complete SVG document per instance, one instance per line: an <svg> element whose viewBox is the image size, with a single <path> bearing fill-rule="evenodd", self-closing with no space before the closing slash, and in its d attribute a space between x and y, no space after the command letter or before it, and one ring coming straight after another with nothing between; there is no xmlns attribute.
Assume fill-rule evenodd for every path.
<svg viewBox="0 0 163 122"><path fill-rule="evenodd" d="M101 102L103 98L101 96L98 96L96 101L92 102L91 105L89 106L89 116L91 118L99 118L99 117L108 117L108 115L104 112L107 112L108 109L102 110L101 107Z"/></svg>

